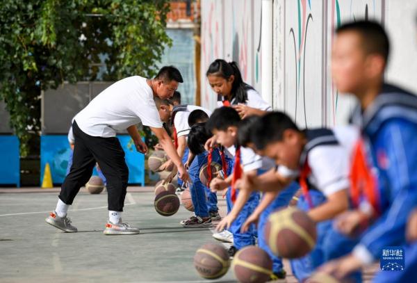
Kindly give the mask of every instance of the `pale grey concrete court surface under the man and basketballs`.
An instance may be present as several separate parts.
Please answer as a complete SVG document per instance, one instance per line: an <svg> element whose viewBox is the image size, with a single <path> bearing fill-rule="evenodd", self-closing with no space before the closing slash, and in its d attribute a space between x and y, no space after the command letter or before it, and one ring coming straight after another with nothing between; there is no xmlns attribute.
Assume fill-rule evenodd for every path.
<svg viewBox="0 0 417 283"><path fill-rule="evenodd" d="M199 277L193 256L215 242L213 231L181 227L179 221L190 216L183 207L174 216L160 216L152 188L128 189L123 220L141 230L130 236L102 233L105 191L81 190L68 214L79 232L65 233L44 222L59 190L24 190L0 190L0 282L236 282L231 270L220 280ZM223 214L221 197L219 206ZM289 274L279 282L297 282L285 265Z"/></svg>

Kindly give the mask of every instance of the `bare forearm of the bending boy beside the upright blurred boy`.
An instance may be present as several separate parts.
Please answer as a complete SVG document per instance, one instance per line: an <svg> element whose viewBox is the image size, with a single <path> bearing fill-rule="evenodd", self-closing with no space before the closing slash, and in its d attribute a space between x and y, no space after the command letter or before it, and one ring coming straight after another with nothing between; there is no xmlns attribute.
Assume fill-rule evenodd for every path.
<svg viewBox="0 0 417 283"><path fill-rule="evenodd" d="M329 220L349 208L349 200L347 199L347 189L332 193L327 196L327 201L318 207L311 209L308 214L311 219L318 223Z"/></svg>

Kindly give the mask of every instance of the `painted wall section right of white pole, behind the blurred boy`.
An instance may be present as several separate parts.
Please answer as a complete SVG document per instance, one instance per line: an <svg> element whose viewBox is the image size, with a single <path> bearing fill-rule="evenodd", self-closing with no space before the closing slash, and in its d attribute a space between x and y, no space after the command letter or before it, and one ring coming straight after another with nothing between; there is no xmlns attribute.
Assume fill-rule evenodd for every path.
<svg viewBox="0 0 417 283"><path fill-rule="evenodd" d="M402 0L274 0L275 108L302 127L345 124L354 98L341 95L330 70L334 30L356 19L386 26L391 59L386 80L417 92L417 2Z"/></svg>

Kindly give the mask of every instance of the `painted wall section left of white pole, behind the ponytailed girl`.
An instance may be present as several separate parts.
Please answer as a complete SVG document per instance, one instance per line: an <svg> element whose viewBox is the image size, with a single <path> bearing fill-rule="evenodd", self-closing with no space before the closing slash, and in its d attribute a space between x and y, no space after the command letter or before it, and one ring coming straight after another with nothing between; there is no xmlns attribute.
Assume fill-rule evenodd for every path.
<svg viewBox="0 0 417 283"><path fill-rule="evenodd" d="M243 80L261 92L261 5L257 0L202 1L202 106L217 96L206 80L213 60L236 61Z"/></svg>

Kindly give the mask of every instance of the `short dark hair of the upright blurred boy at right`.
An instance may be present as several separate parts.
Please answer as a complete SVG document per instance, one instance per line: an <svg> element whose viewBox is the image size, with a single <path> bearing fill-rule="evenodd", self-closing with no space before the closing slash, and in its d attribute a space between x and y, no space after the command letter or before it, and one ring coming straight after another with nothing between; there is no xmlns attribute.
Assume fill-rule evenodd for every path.
<svg viewBox="0 0 417 283"><path fill-rule="evenodd" d="M361 20L343 24L336 29L340 34L345 31L354 31L359 33L363 42L363 49L368 54L379 54L384 57L385 61L389 56L389 38L381 24L372 21Z"/></svg>

